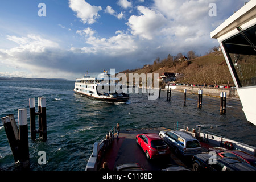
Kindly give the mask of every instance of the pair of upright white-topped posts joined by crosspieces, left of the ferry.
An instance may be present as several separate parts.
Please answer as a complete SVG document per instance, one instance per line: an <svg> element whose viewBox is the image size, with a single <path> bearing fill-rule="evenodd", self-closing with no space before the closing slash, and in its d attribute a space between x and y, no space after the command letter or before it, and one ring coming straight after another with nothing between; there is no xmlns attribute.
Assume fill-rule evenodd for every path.
<svg viewBox="0 0 256 182"><path fill-rule="evenodd" d="M38 130L35 128L35 117L38 115ZM35 112L35 98L30 98L30 132L31 140L36 139L36 134L42 137L43 142L47 140L46 125L46 98L38 97L38 113Z"/></svg>

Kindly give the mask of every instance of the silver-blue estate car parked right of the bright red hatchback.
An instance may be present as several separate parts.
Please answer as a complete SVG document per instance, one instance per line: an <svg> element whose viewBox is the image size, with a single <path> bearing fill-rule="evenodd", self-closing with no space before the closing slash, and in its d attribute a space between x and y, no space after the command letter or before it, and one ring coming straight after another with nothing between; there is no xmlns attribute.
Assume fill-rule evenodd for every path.
<svg viewBox="0 0 256 182"><path fill-rule="evenodd" d="M202 152L199 141L184 131L160 131L159 136L174 148L175 154L193 156Z"/></svg>

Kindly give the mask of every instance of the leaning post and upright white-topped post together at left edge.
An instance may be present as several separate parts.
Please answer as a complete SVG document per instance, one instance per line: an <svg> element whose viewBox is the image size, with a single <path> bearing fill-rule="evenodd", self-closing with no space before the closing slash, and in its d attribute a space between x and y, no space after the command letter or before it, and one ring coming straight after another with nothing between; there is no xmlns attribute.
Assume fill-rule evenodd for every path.
<svg viewBox="0 0 256 182"><path fill-rule="evenodd" d="M20 162L22 169L30 168L28 147L27 109L18 110L18 124L13 114L1 118L15 162Z"/></svg>

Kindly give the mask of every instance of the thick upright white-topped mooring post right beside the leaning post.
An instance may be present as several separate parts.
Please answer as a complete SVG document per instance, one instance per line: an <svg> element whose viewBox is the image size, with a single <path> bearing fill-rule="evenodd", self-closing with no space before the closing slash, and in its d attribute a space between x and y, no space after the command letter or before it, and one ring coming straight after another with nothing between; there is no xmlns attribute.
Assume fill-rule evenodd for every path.
<svg viewBox="0 0 256 182"><path fill-rule="evenodd" d="M28 148L28 127L27 127L27 109L18 110L19 118L19 155L20 162L24 169L30 167L30 154Z"/></svg>

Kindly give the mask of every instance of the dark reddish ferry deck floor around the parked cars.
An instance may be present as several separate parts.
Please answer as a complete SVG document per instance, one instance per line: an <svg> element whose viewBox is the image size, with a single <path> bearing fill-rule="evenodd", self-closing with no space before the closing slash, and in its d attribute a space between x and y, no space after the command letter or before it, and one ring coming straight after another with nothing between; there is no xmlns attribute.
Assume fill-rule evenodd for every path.
<svg viewBox="0 0 256 182"><path fill-rule="evenodd" d="M161 130L169 130L166 128L155 128L155 129L129 129L120 131L119 140L116 136L109 146L106 154L102 156L101 166L103 162L108 162L109 169L114 170L114 167L118 164L125 163L138 163L146 171L159 171L167 168L171 164L184 166L188 169L192 169L191 158L184 158L180 155L175 155L171 150L171 154L165 158L147 159L146 154L142 150L141 146L136 143L137 134L141 133L159 133ZM201 143L203 152L208 151L208 148L212 147L208 144ZM101 167L100 166L100 167Z"/></svg>

